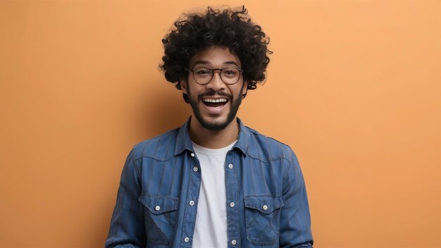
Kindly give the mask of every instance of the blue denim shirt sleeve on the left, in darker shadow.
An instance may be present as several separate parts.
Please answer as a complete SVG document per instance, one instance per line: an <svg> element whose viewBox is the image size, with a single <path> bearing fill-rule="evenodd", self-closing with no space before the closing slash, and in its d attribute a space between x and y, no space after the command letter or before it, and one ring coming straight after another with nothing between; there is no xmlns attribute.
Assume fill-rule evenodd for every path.
<svg viewBox="0 0 441 248"><path fill-rule="evenodd" d="M144 213L138 200L141 185L134 154L132 150L128 155L121 174L106 248L137 248L146 243Z"/></svg>

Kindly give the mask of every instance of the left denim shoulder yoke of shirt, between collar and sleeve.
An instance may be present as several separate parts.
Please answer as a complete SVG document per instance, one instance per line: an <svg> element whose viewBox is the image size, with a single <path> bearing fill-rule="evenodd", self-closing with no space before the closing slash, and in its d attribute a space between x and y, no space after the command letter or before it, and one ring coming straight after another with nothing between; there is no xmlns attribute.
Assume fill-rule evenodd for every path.
<svg viewBox="0 0 441 248"><path fill-rule="evenodd" d="M140 159L148 157L159 161L169 159L175 152L178 132L179 128L176 128L162 135L135 144L131 151L133 158Z"/></svg>

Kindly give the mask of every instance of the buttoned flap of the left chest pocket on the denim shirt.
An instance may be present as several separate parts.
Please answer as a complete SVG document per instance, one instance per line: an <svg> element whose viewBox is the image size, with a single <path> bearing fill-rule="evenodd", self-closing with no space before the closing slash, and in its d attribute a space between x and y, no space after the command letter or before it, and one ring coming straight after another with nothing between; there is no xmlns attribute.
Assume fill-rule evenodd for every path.
<svg viewBox="0 0 441 248"><path fill-rule="evenodd" d="M139 202L146 206L151 213L160 214L178 209L178 198L156 196L153 194L141 194Z"/></svg>

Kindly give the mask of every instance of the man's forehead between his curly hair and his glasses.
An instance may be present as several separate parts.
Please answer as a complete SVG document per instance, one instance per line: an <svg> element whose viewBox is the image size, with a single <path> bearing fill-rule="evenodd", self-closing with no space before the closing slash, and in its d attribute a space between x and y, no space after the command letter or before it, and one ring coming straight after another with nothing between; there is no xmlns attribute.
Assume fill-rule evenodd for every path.
<svg viewBox="0 0 441 248"><path fill-rule="evenodd" d="M240 59L230 52L225 46L209 46L207 49L198 51L190 59L190 68L194 66L209 66L222 68L235 66L240 68Z"/></svg>

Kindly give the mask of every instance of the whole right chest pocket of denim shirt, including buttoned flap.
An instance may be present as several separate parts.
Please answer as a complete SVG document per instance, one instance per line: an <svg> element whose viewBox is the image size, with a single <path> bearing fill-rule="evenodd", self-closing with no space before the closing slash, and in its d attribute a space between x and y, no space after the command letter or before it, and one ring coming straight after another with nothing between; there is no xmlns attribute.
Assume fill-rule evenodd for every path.
<svg viewBox="0 0 441 248"><path fill-rule="evenodd" d="M256 245L270 245L278 240L281 197L246 196L245 221L247 240Z"/></svg>

